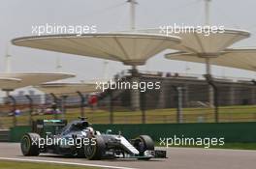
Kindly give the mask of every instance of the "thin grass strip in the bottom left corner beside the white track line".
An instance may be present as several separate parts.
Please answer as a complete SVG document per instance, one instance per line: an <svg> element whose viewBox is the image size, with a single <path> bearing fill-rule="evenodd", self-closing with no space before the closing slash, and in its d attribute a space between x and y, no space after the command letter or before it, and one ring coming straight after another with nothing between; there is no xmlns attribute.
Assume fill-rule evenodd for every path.
<svg viewBox="0 0 256 169"><path fill-rule="evenodd" d="M47 165L46 165L47 164ZM0 169L99 169L96 167L62 165L53 163L17 162L11 160L0 160Z"/></svg>

